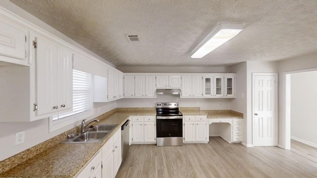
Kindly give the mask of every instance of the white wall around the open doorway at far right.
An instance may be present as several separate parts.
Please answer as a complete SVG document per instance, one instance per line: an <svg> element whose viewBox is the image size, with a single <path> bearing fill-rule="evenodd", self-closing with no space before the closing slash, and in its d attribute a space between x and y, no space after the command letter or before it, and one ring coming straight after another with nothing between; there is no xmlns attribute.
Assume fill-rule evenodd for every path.
<svg viewBox="0 0 317 178"><path fill-rule="evenodd" d="M290 145L289 139L287 139L287 131L290 130L290 124L286 120L285 115L285 76L286 74L299 73L300 70L308 70L317 68L317 53L297 56L294 58L282 60L278 62L279 66L279 146L287 148ZM315 81L317 79L314 79ZM287 143L288 142L288 143Z"/></svg>

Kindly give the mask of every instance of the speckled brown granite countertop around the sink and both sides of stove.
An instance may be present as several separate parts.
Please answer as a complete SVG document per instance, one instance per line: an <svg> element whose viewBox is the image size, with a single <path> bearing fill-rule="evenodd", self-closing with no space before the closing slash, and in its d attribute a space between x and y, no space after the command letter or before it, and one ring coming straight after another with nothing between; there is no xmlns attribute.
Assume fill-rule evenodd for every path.
<svg viewBox="0 0 317 178"><path fill-rule="evenodd" d="M181 110L183 115L207 115L208 118L243 118L241 113L231 110ZM100 124L117 124L100 143L57 143L36 154L12 169L0 174L0 178L73 178L87 162L102 148L107 140L130 116L156 115L155 110L117 110L107 116L99 116ZM97 119L96 118L96 119ZM65 133L64 133L65 134ZM63 134L63 135L64 135ZM62 134L61 134L62 135ZM57 135L58 136L58 135ZM60 135L59 135L60 136ZM64 136L61 138L63 139ZM45 144L43 146L46 146ZM18 158L17 158L18 159Z"/></svg>

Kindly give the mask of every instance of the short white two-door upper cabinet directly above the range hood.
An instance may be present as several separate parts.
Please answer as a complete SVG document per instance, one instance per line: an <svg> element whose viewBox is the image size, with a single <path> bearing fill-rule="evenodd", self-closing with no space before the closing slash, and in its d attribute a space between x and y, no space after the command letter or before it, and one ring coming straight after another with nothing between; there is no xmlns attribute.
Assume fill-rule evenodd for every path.
<svg viewBox="0 0 317 178"><path fill-rule="evenodd" d="M181 76L157 76L158 89L180 89L181 84Z"/></svg>

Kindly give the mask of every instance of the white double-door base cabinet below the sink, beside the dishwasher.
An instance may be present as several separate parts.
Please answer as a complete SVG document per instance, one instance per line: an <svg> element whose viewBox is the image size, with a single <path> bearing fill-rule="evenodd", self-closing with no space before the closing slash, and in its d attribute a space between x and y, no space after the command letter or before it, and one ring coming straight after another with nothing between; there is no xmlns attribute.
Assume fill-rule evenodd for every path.
<svg viewBox="0 0 317 178"><path fill-rule="evenodd" d="M120 129L106 142L102 153L102 178L114 178L122 162Z"/></svg>

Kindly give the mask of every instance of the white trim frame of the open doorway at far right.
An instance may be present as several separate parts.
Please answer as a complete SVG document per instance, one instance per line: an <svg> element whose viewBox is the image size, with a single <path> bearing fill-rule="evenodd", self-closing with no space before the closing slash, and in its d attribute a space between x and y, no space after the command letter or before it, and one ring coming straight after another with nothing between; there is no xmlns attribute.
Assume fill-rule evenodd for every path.
<svg viewBox="0 0 317 178"><path fill-rule="evenodd" d="M283 89L282 89L282 114L281 114L281 125L282 125L282 140L280 141L281 148L290 150L291 149L291 74L298 74L304 72L317 71L317 68L296 70L290 72L283 72Z"/></svg>

